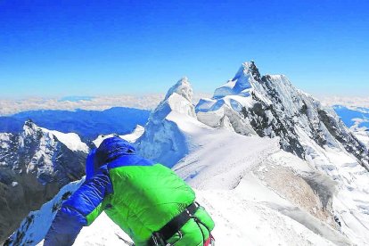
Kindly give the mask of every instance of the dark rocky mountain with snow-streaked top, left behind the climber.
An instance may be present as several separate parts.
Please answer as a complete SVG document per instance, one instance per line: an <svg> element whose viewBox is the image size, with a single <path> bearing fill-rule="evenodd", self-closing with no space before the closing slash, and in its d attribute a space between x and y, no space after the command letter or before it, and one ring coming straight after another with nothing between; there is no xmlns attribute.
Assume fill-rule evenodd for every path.
<svg viewBox="0 0 369 246"><path fill-rule="evenodd" d="M0 134L0 242L29 211L84 176L85 160L86 152L71 151L31 121L19 135Z"/></svg>

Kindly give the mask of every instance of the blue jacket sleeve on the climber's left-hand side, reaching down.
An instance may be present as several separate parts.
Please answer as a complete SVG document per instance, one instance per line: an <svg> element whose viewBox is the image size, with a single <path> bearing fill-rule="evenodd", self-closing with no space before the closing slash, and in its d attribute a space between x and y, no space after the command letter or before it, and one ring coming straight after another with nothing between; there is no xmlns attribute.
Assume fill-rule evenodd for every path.
<svg viewBox="0 0 369 246"><path fill-rule="evenodd" d="M110 176L106 167L100 168L61 205L45 236L44 245L72 245L82 227L92 223L88 216L101 208L104 197L109 193L112 193Z"/></svg>

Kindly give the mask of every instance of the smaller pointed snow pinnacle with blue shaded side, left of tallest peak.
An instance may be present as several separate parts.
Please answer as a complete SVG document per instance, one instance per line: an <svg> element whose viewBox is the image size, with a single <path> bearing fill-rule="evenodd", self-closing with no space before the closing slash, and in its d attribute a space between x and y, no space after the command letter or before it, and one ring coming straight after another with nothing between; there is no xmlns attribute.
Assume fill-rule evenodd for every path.
<svg viewBox="0 0 369 246"><path fill-rule="evenodd" d="M196 119L192 98L193 88L188 79L182 78L176 82L152 111L145 132L137 140L138 152L168 167L175 165L189 149L176 119Z"/></svg>

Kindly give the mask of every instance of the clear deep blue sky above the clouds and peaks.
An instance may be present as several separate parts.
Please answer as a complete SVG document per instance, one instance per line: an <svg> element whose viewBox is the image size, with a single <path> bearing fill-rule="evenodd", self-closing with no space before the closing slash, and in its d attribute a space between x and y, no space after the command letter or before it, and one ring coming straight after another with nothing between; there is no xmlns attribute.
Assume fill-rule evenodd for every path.
<svg viewBox="0 0 369 246"><path fill-rule="evenodd" d="M0 0L0 97L212 93L243 61L368 95L369 2Z"/></svg>

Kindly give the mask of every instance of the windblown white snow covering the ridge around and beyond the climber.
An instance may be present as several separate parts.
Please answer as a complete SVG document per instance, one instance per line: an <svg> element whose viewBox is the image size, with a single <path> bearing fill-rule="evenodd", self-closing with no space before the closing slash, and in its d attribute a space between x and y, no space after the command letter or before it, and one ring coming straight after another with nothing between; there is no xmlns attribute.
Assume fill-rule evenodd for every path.
<svg viewBox="0 0 369 246"><path fill-rule="evenodd" d="M234 86L224 86L216 97L233 94ZM227 95L219 103L252 106L250 84L242 80L241 86L242 94ZM369 245L369 176L354 155L343 147L324 148L306 136L310 152L308 161L302 160L284 152L279 137L255 135L244 121L231 124L238 119L233 111L220 117L217 126L201 123L191 98L188 79L179 80L135 145L192 185L197 201L216 222L217 245ZM235 127L243 134L235 133ZM299 137L304 134L301 129ZM50 208L81 182L68 184L26 218L10 244L42 240L55 213ZM129 241L127 235L102 214L82 229L74 245L124 245L124 240Z"/></svg>

